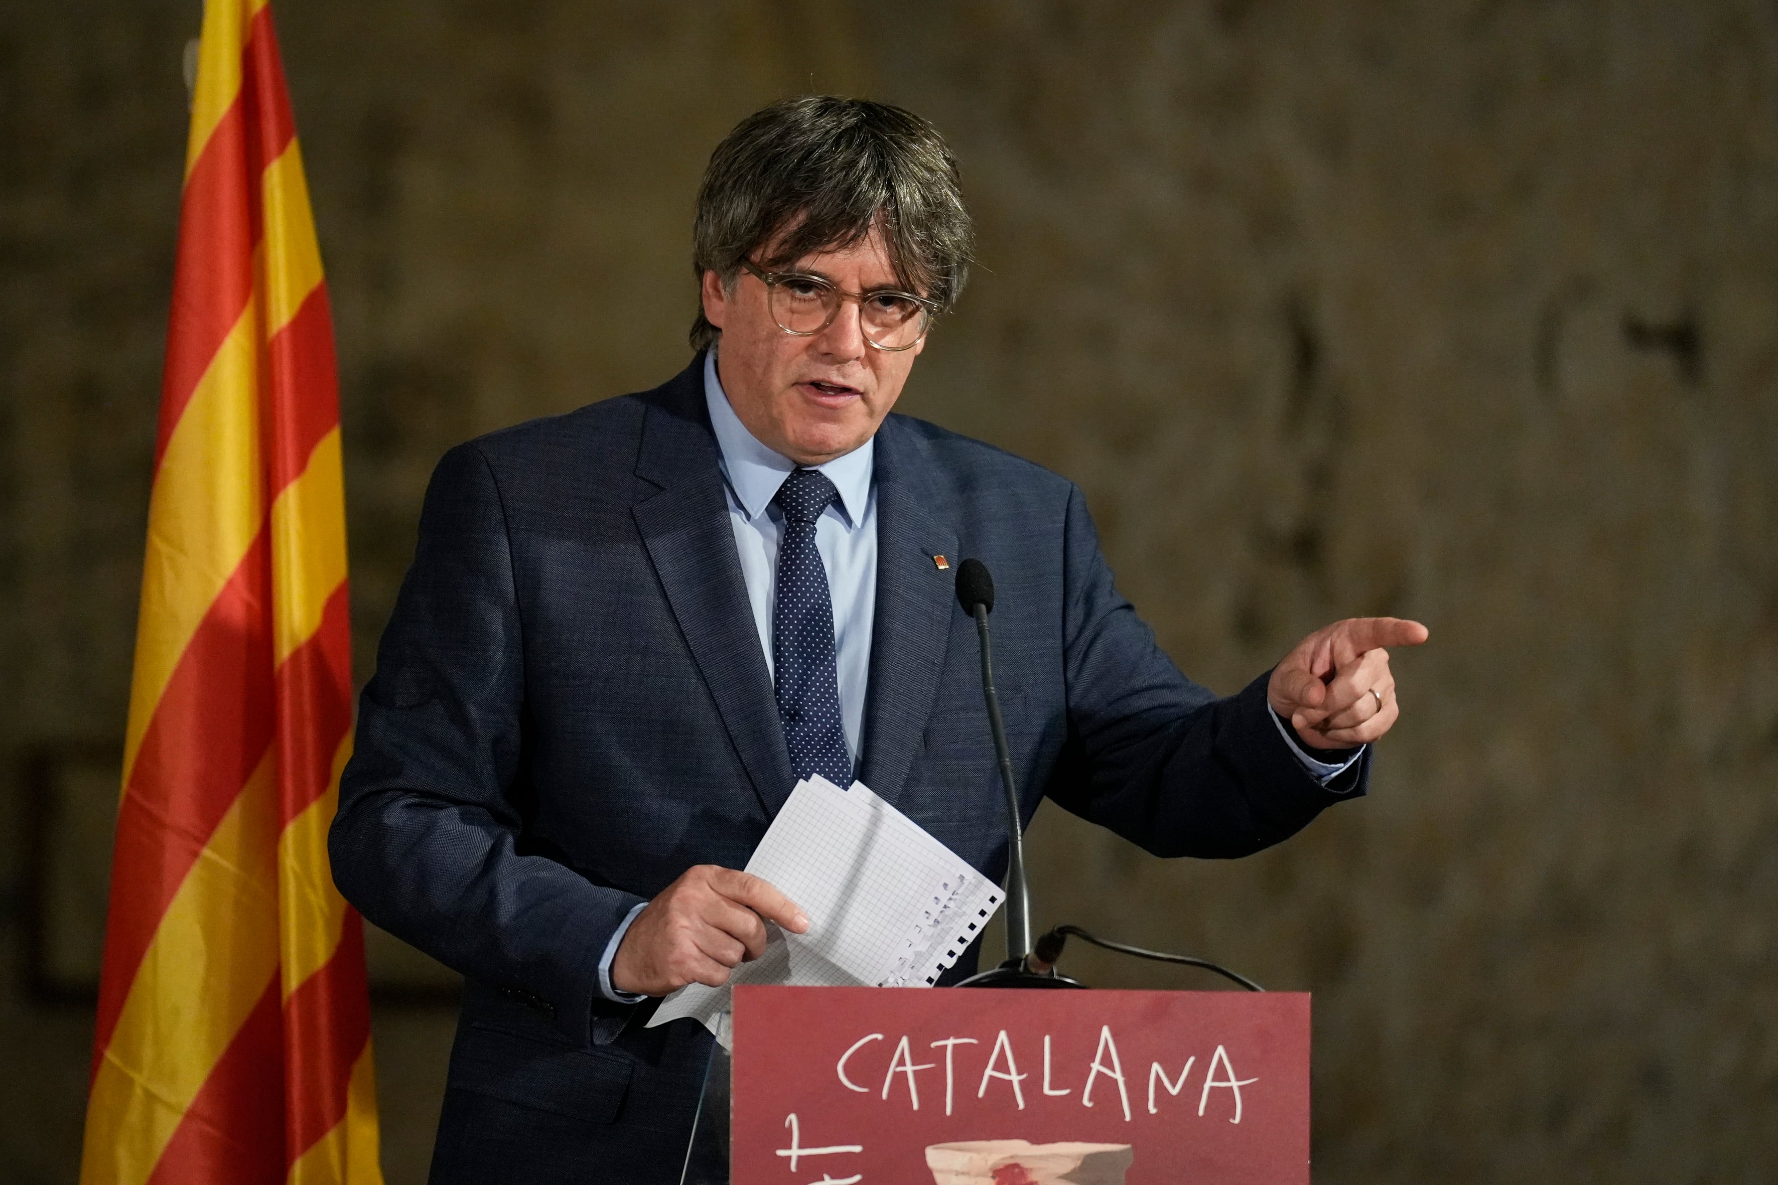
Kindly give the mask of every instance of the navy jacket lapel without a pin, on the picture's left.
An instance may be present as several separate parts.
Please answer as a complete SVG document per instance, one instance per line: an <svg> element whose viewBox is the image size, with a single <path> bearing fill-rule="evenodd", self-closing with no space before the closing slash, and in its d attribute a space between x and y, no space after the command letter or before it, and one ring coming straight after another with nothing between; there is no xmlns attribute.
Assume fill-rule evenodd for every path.
<svg viewBox="0 0 1778 1185"><path fill-rule="evenodd" d="M649 402L637 476L658 492L638 489L631 513L729 741L770 819L789 798L793 773L741 561L734 554L702 375L699 357Z"/></svg>

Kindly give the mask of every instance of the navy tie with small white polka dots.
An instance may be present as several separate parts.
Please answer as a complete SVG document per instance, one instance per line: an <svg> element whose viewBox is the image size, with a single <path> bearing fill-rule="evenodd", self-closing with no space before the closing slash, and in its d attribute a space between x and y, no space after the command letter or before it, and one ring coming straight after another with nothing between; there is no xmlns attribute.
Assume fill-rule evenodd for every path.
<svg viewBox="0 0 1778 1185"><path fill-rule="evenodd" d="M839 723L839 670L834 661L834 600L814 549L814 521L839 490L816 469L797 469L772 503L784 512L777 606L772 615L772 668L779 720L798 778L821 775L852 785L846 732Z"/></svg>

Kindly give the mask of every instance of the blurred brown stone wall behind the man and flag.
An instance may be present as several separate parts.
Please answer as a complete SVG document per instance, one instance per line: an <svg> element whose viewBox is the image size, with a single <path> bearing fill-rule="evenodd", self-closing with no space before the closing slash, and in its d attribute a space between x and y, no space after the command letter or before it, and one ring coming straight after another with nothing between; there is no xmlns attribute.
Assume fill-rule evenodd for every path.
<svg viewBox="0 0 1778 1185"><path fill-rule="evenodd" d="M1433 629L1367 801L1234 863L1049 808L1038 920L1312 990L1321 1181L1769 1176L1778 7L277 12L361 677L446 446L685 361L720 135L809 89L905 103L981 266L903 410L1079 481L1214 688L1335 616ZM0 9L0 759L123 728L196 28ZM0 1178L71 1181L91 1018L25 990L34 787L4 769ZM423 1180L450 1023L377 1013L391 1185Z"/></svg>

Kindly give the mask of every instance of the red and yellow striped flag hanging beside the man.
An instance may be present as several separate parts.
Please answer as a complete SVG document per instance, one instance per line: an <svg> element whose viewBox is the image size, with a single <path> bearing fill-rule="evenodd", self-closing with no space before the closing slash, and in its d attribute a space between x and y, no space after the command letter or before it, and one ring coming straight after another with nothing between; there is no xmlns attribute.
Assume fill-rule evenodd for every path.
<svg viewBox="0 0 1778 1185"><path fill-rule="evenodd" d="M206 0L84 1185L380 1181L332 325L272 12Z"/></svg>

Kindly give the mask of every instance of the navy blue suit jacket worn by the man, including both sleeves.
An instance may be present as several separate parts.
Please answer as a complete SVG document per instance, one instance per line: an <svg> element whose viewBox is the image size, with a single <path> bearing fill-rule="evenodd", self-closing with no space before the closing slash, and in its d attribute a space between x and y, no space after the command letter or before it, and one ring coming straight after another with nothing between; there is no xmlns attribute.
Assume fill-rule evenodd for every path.
<svg viewBox="0 0 1778 1185"><path fill-rule="evenodd" d="M857 776L981 872L1006 826L964 556L994 572L1026 821L1047 794L1161 856L1239 856L1362 792L1362 764L1303 771L1264 677L1218 698L1179 673L1070 481L905 416L875 480ZM679 1180L708 1036L644 1029L597 963L693 863L743 867L795 780L724 499L701 361L432 476L331 853L364 917L464 975L434 1181Z"/></svg>

